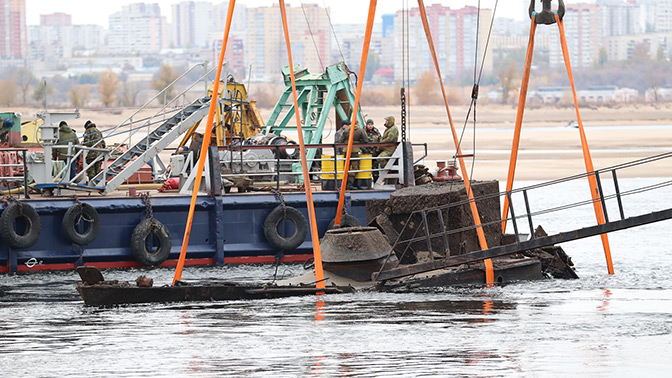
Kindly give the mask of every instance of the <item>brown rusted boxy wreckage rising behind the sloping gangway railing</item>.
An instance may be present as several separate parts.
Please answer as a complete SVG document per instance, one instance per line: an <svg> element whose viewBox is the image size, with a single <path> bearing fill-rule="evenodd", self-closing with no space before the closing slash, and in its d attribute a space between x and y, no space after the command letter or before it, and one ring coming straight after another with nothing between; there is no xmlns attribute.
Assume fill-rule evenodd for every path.
<svg viewBox="0 0 672 378"><path fill-rule="evenodd" d="M515 243L515 235L502 235L499 183L472 182L472 189L488 248ZM397 190L389 200L368 201L366 210L369 225L385 234L397 259L402 264L418 264L481 250L467 200L463 182L432 182ZM535 237L544 236L538 227ZM547 276L578 278L571 258L557 246L520 251L495 258L493 263L526 258L538 259Z"/></svg>

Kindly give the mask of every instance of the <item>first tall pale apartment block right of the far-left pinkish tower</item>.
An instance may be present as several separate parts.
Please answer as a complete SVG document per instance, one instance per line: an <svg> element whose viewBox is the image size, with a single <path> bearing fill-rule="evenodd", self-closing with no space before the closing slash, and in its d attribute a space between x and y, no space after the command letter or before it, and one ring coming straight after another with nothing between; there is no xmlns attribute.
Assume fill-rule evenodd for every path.
<svg viewBox="0 0 672 378"><path fill-rule="evenodd" d="M110 16L108 47L111 53L156 53L167 47L166 19L159 5L124 5Z"/></svg>

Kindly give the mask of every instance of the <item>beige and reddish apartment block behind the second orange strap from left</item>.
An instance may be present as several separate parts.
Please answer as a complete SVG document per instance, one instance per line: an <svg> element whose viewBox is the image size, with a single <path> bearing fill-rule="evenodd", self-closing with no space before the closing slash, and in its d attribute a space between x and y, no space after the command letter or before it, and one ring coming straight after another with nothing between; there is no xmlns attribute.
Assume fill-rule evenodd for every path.
<svg viewBox="0 0 672 378"><path fill-rule="evenodd" d="M293 61L310 72L332 63L328 11L315 4L287 7ZM248 8L245 55L252 79L278 80L288 64L285 46L279 6Z"/></svg>

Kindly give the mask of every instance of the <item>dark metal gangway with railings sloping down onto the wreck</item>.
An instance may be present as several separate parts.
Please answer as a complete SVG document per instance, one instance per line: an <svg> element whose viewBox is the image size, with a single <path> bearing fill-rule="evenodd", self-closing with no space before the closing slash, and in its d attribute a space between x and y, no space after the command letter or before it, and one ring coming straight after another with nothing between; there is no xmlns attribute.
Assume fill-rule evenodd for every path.
<svg viewBox="0 0 672 378"><path fill-rule="evenodd" d="M399 267L399 264L397 264L397 266L393 269L374 273L372 275L372 278L373 280L377 281L396 279L417 273L424 273L437 269L458 266L461 264L479 262L485 259L511 255L534 248L547 247L558 243L579 240L591 236L596 236L619 230L625 230L628 228L643 226L649 223L672 219L672 207L633 215L626 215L624 207L624 201L629 196L648 192L655 194L654 191L656 190L672 186L672 179L661 179L660 182L656 182L654 184L642 185L634 188L629 188L627 190L621 190L618 180L619 172L622 172L626 169L637 169L638 167L641 167L642 165L645 164L660 164L661 162L663 164L672 163L672 152L667 152L660 155L655 155L648 158L643 158L640 160L616 165L613 167L608 167L580 175L570 176L546 183L513 189L510 191L504 191L500 193L478 196L475 197L473 201L463 200L448 203L442 206L416 210L410 214L408 220L405 222L405 226L402 229L402 231L398 232L398 236L396 237L396 241L394 242L393 248L390 251L389 256L392 256L392 254L395 253L395 249L397 249L401 250L401 254L403 257L403 255L408 251L408 249L411 248L411 245L413 245L413 243L422 242L423 244L426 243L426 248L429 251L431 261L419 264L405 265L403 267ZM560 206L539 208L539 209L535 208L535 210L531 210L533 205L530 201L531 192L538 191L540 189L545 190L554 189L556 187L561 186L564 183L568 183L570 181L575 180L587 179L589 176L594 176L597 181L599 196L596 200L590 198L587 200L580 200L566 203ZM608 185L608 183L610 185ZM606 190L607 187L609 187L609 192ZM458 209L459 207L464 206L468 207L471 202L476 202L477 204L483 204L486 201L499 200L500 203L504 203L504 198L508 198L510 216L504 220L502 219L486 220L485 222L482 223L482 227L484 228L495 227L496 229L499 229L499 232L501 233L502 223L511 222L515 233L515 238L513 238L515 242L494 246L486 250L473 251L463 254L451 254L448 241L450 236L464 232L475 233L477 226L469 226L449 230L446 227L447 222L445 222L448 216L448 212L451 210ZM516 206L514 206L514 200L517 203ZM535 220L540 216L551 215L554 217L562 217L563 214L566 214L566 212L563 213L566 210L581 206L592 207L595 202L599 202L599 204L602 207L602 210L604 211L605 222L603 224L590 225L581 228L573 228L570 230L557 232L547 236L535 237L534 232ZM525 211L520 211L521 206L524 206ZM610 207L612 208L612 210L614 207L618 209L617 216L614 217L613 214L612 217L609 216L608 209ZM411 221L412 218L415 218L417 221L412 222ZM404 235L409 234L409 232L407 232L407 229L410 224L415 225L415 231L410 233L411 234L410 237L405 237ZM523 237L523 233L521 232L523 227L526 228L529 227L530 239L528 240L524 240L525 238ZM383 229L385 229L385 227L383 227ZM435 254L438 254L439 256L442 257L441 258L436 257ZM401 261L401 258L399 258L399 261Z"/></svg>

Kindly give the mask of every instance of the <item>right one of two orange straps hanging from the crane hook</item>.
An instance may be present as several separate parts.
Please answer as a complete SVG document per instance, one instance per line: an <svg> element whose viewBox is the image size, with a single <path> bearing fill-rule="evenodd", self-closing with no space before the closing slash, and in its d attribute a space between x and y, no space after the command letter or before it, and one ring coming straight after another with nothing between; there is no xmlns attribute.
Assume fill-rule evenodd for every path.
<svg viewBox="0 0 672 378"><path fill-rule="evenodd" d="M593 159L590 156L590 149L588 148L588 139L583 129L583 121L579 113L579 102L576 97L576 88L574 87L574 76L572 75L572 66L569 61L569 49L567 48L567 39L565 37L565 25L556 13L555 20L558 23L560 31L560 44L562 46L562 56L565 59L565 66L567 67L567 76L569 76L569 84L572 87L572 95L574 96L574 109L576 109L576 121L579 124L579 134L581 136L581 147L583 149L583 160L586 163L586 172L588 172L588 183L590 184L590 193L593 198L593 207L595 208L595 217L598 224L604 224L604 213L602 212L602 205L600 204L600 193L597 188L597 180L595 179L595 168L593 167ZM602 238L602 247L604 248L604 257L607 260L607 271L609 274L614 274L614 266L611 261L611 248L609 247L609 238L607 234L600 235Z"/></svg>

